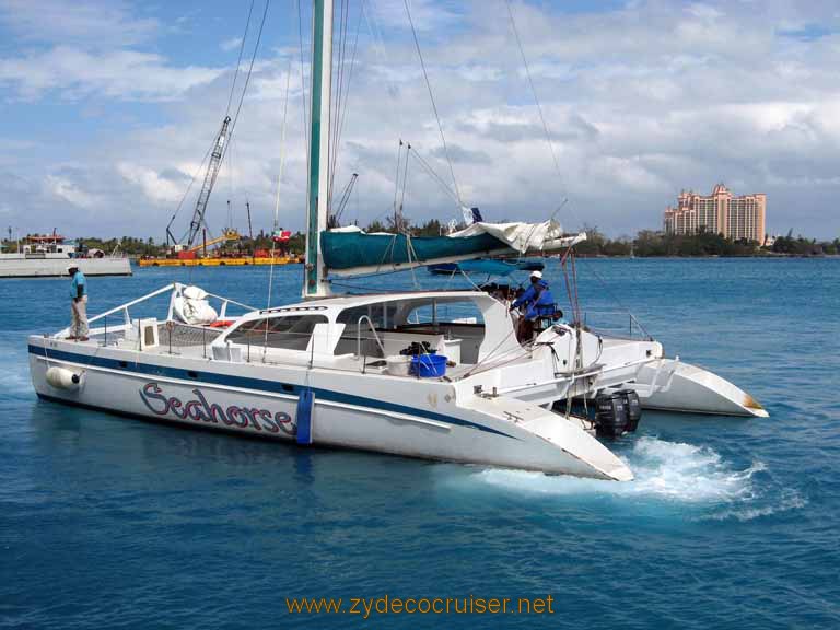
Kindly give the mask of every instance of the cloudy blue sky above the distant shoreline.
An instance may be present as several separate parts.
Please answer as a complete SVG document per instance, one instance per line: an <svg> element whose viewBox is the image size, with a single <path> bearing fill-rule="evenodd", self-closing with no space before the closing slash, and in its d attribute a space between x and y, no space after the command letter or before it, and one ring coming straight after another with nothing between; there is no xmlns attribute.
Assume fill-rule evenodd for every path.
<svg viewBox="0 0 840 630"><path fill-rule="evenodd" d="M254 2L237 91L265 1ZM211 231L247 230L246 202L255 230L271 228L276 203L282 226L304 224L311 3L302 4L270 0L210 200ZM359 178L345 222L383 220L397 198L413 222L459 218L463 203L490 221L556 217L569 231L621 236L658 229L681 189L709 194L723 182L767 194L770 233L840 236L836 2L408 4L446 150L405 0L349 0L335 197ZM184 234L248 7L0 0L3 235L56 228L160 241L173 214ZM419 156L407 171L397 168L400 139Z"/></svg>

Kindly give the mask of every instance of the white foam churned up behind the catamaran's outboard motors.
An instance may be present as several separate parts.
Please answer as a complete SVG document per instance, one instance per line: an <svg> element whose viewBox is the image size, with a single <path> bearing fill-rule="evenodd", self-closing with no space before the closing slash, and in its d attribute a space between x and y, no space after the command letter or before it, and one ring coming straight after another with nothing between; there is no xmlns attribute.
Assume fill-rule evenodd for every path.
<svg viewBox="0 0 840 630"><path fill-rule="evenodd" d="M760 462L754 462L744 470L733 469L712 448L656 438L639 439L622 458L635 475L633 481L600 481L501 469L482 470L475 477L486 483L524 492L614 494L719 503L751 499L755 493L751 478L765 469Z"/></svg>

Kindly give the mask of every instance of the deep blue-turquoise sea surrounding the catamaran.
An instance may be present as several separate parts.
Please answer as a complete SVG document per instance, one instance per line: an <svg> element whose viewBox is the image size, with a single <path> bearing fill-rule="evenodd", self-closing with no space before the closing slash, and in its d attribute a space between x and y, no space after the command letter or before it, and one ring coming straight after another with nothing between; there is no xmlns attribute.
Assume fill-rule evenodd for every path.
<svg viewBox="0 0 840 630"><path fill-rule="evenodd" d="M645 412L629 483L177 429L38 401L26 335L67 325L68 280L0 281L0 628L840 628L840 260L579 272L593 317L632 311L771 417ZM294 300L301 268L275 273ZM139 269L90 279L90 312L176 279L266 302L266 268ZM386 595L553 612L347 610ZM289 612L301 596L345 611Z"/></svg>

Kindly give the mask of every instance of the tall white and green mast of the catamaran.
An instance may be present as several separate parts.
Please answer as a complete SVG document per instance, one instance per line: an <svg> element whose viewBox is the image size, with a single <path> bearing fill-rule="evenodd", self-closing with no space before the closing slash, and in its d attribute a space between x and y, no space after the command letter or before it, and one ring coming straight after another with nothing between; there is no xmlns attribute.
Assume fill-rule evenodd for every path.
<svg viewBox="0 0 840 630"><path fill-rule="evenodd" d="M322 298L329 294L329 285L326 283L327 270L320 252L320 233L327 229L331 89L332 0L313 0L304 298Z"/></svg>

